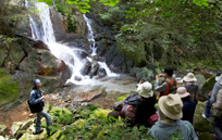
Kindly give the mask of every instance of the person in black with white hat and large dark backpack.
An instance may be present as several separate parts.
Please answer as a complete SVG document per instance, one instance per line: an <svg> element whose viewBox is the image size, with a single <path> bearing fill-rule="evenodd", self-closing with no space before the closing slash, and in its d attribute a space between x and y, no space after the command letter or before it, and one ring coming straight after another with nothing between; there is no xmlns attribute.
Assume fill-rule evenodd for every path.
<svg viewBox="0 0 222 140"><path fill-rule="evenodd" d="M152 85L148 81L138 84L137 92L138 94L131 94L123 101L115 103L114 111L108 114L108 118L110 116L115 118L119 116L128 117L130 126L150 126L148 118L156 113L156 94L153 94Z"/></svg>

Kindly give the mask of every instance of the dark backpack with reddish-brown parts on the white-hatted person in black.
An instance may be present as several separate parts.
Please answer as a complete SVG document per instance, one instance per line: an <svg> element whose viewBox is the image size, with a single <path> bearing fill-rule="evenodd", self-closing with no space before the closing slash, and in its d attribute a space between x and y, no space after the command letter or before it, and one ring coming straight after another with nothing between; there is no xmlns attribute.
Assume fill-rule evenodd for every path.
<svg viewBox="0 0 222 140"><path fill-rule="evenodd" d="M124 100L115 103L113 109L115 111L120 111L120 116L122 118L128 117L130 123L134 124L137 106L140 101L139 99L140 98L138 94L131 94L126 97Z"/></svg>

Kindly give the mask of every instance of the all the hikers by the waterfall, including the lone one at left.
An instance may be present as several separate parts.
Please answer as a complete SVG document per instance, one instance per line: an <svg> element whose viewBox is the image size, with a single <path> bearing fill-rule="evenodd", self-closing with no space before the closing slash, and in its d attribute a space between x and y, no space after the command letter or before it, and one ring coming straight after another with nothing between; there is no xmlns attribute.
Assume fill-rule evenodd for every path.
<svg viewBox="0 0 222 140"><path fill-rule="evenodd" d="M173 68L165 67L161 75L156 76L155 88L148 81L139 82L136 89L137 93L131 94L123 101L115 103L113 106L114 111L109 113L108 118L111 116L115 118L119 118L119 116L127 117L128 119L126 120L130 126L144 125L151 127L148 135L158 140L171 139L173 136L184 140L198 140L193 127L194 113L198 102L197 93L199 87L196 85L197 79L193 73L188 73L183 78L183 86L176 88L178 84L172 75ZM161 82L160 77L164 77L164 81ZM222 75L217 74L215 80L211 98L206 104L206 112L202 114L206 119L211 117L211 106L220 106L222 104ZM50 136L52 135L50 129L52 122L50 115L42 110L45 97L40 87L40 80L36 79L28 101L30 105L40 104L39 110L34 112L37 113L36 131L34 133L37 135L44 131L40 128L40 119L46 117L47 133ZM176 91L174 92L175 89ZM153 91L158 92L158 97ZM155 107L157 101L158 111ZM153 122L153 119L156 120ZM222 139L221 118L214 118L212 126L215 139Z"/></svg>

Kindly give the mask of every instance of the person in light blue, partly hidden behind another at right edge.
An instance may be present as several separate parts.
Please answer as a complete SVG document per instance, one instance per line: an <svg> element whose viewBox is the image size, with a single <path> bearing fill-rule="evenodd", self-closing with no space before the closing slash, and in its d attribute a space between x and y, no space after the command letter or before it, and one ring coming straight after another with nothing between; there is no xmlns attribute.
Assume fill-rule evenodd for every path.
<svg viewBox="0 0 222 140"><path fill-rule="evenodd" d="M217 94L218 94L218 91L220 89L222 89L222 75L218 76L219 74L217 74L215 76L215 84L213 86L213 89L212 89L212 93L211 93L211 97L210 99L208 100L208 102L206 103L206 109L205 109L205 113L202 114L202 117L208 119L209 117L211 117L211 114L210 114L210 107L211 105L217 101Z"/></svg>

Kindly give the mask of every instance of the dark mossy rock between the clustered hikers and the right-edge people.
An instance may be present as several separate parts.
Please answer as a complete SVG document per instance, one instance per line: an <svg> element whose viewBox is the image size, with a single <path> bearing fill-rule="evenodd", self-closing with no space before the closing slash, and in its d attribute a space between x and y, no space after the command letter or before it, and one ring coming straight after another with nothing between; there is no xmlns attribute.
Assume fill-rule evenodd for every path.
<svg viewBox="0 0 222 140"><path fill-rule="evenodd" d="M194 128L196 131L212 131L211 120L202 118L202 113L205 113L206 102L198 102L195 114L194 114Z"/></svg>

